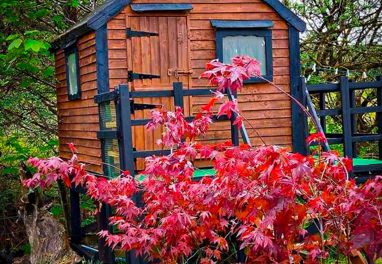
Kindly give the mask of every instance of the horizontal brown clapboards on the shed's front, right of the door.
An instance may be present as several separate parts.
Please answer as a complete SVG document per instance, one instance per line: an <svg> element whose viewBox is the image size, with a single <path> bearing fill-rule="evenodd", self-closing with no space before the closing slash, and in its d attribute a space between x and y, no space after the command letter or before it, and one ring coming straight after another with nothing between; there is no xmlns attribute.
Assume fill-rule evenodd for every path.
<svg viewBox="0 0 382 264"><path fill-rule="evenodd" d="M134 0L134 3L154 2L154 0ZM288 24L270 6L261 0L164 0L161 2L187 2L192 3L194 7L189 13L183 13L187 16L189 66L194 70L194 73L189 76L189 89L208 86L206 80L199 79L199 76L204 71L206 63L216 58L215 31L210 23L211 19L271 19L274 23L272 28L274 83L280 86L283 91L290 92ZM128 17L180 15L179 12L166 12L165 14L161 12L145 12L141 14L131 10L130 6L126 6L121 13L125 13ZM147 39L152 40L155 37ZM166 46L168 43L164 42L163 45ZM161 47L161 52L162 50ZM166 76L163 77L167 78ZM155 88L163 89L164 87L158 85ZM196 114L199 108L208 100L208 96L190 98L190 113ZM272 135L272 129L263 130L264 133L267 133L267 136L264 137L266 143L282 145L291 149L291 102L285 94L265 83L245 84L243 90L239 92L238 101L239 108L253 126L260 128L266 126L267 129L277 127L278 132L282 133L282 135L277 135L278 132L275 131L275 134ZM249 127L248 124L246 127ZM211 128L213 131L210 134L199 139L206 143L212 143L229 138L229 122L216 122ZM251 129L248 128L247 130ZM215 131L220 131L223 134ZM249 131L249 134L252 135L253 132ZM224 135L224 139L220 137L222 135ZM261 144L259 138L255 135L251 136L251 142L253 145Z"/></svg>

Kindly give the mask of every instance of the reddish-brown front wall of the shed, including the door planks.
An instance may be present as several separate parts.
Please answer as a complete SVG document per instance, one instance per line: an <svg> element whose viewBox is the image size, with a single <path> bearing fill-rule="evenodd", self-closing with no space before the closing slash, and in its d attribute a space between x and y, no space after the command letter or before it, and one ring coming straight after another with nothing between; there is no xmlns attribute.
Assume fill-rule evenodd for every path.
<svg viewBox="0 0 382 264"><path fill-rule="evenodd" d="M150 3L153 0L135 0L133 3ZM127 71L132 69L134 72L159 74L161 80L134 81L130 84L133 90L144 89L172 89L167 81L167 68L171 63L168 60L177 53L181 47L171 46L171 39L178 40L181 36L172 35L172 17L185 18L186 25L175 24L175 31L187 34L188 43L181 43L188 48L186 58L188 67L194 73L189 77L181 77L184 89L198 89L207 87L205 79L198 79L204 71L207 61L216 58L215 31L210 20L257 20L271 19L274 23L272 29L272 54L274 82L286 92L290 92L290 71L289 71L289 40L287 23L268 5L261 0L162 0L165 3L192 3L193 10L189 12L143 12L137 13L126 6L108 24L108 44L109 44L109 76L110 86L119 83L126 83ZM163 21L167 18L167 21ZM159 19L159 23L156 22ZM156 24L158 23L158 26ZM126 27L134 30L159 32L159 37L140 37L133 40L126 40ZM167 37L162 37L163 34ZM158 41L159 39L159 41ZM170 43L168 42L170 40ZM137 45L146 47L145 50L135 48ZM167 45L167 46L166 46ZM160 48L160 62L156 58L155 52ZM164 53L164 54L163 54ZM178 52L179 53L179 52ZM163 59L168 56L167 61ZM137 59L138 58L138 59ZM127 61L126 61L127 60ZM139 66L135 61L139 62ZM178 61L178 64L185 63ZM146 67L144 66L146 64ZM164 80L164 81L163 81ZM177 81L172 78L171 81ZM196 114L199 108L209 100L209 96L197 96L185 98L186 113ZM173 109L171 100L161 98L159 101L154 99L136 100L146 103L165 103L167 109ZM292 149L292 129L291 129L291 101L282 93L278 92L270 85L265 83L245 84L244 89L238 95L239 108L244 116L249 119L251 124L257 128L267 144L277 144ZM146 117L147 111L136 111L133 118ZM249 128L247 130L253 145L262 145L256 132ZM135 127L134 146L137 150L150 150L161 148L155 146L155 140L160 138L159 134L146 132L143 127ZM211 126L211 131L199 138L203 143L214 143L230 139L229 122L216 122ZM202 163L199 163L202 165ZM143 161L138 160L137 168L143 167Z"/></svg>

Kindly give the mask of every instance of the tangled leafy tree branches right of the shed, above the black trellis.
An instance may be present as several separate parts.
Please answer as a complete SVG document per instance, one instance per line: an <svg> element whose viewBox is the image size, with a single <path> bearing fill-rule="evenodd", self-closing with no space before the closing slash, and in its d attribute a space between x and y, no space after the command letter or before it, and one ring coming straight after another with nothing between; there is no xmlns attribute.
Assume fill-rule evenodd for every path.
<svg viewBox="0 0 382 264"><path fill-rule="evenodd" d="M370 73L382 66L380 0L286 0L285 4L307 23L302 64Z"/></svg>

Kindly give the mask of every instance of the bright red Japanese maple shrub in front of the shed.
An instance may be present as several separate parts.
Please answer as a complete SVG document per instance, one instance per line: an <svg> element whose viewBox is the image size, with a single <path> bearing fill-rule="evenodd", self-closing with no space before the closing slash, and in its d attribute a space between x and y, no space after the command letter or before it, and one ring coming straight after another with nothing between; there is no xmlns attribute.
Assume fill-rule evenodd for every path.
<svg viewBox="0 0 382 264"><path fill-rule="evenodd" d="M259 63L248 57L233 58L232 64L211 61L202 76L217 92L193 121L186 121L181 108L150 111L146 129L162 125L158 143L173 151L146 158L144 180L128 172L110 180L96 177L74 154L70 161L29 159L38 172L24 184L49 187L61 179L84 185L93 199L115 208L110 223L121 232L99 233L108 245L162 263L238 262L239 249L249 263L316 263L333 250L337 259L361 249L371 260L381 257L380 178L356 185L348 177L351 161L335 152L314 158L274 145L195 141L207 133L216 102L218 115L233 113L241 126L245 118L237 101L226 101L222 92L260 76ZM308 143L325 140L314 134ZM213 161L215 174L193 180L196 158ZM142 207L133 198L138 192ZM309 224L317 232L308 233Z"/></svg>

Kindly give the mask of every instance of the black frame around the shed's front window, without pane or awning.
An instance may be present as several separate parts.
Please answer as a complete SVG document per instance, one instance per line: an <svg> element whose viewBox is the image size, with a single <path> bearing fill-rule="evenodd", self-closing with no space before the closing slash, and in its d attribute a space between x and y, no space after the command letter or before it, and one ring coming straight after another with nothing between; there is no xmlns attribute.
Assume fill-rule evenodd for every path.
<svg viewBox="0 0 382 264"><path fill-rule="evenodd" d="M272 59L272 29L267 28L216 28L216 55L219 61L223 62L223 37L227 36L257 36L265 38L265 60L267 74L262 77L273 82L273 59ZM244 83L265 82L260 78L251 77L251 79L243 80Z"/></svg>

